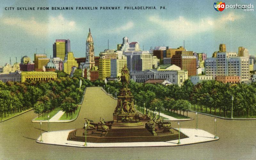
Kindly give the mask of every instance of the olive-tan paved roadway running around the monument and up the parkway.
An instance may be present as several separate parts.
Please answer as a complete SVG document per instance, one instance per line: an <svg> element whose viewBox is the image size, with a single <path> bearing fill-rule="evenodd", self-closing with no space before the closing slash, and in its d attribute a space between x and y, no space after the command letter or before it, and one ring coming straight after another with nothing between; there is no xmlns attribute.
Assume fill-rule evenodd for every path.
<svg viewBox="0 0 256 160"><path fill-rule="evenodd" d="M51 130L82 128L84 118L98 122L100 117L112 120L116 100L100 87L88 87L77 119L68 123L52 123ZM195 118L195 113L189 113ZM29 111L0 123L0 159L255 159L256 120L223 120L217 118L220 140L177 147L76 148L36 143L40 125L31 120L37 115ZM198 127L214 134L213 117L198 115ZM172 122L177 127L177 122ZM181 122L182 128L194 128L195 120ZM47 123L43 123L47 130ZM182 143L182 140L181 140Z"/></svg>

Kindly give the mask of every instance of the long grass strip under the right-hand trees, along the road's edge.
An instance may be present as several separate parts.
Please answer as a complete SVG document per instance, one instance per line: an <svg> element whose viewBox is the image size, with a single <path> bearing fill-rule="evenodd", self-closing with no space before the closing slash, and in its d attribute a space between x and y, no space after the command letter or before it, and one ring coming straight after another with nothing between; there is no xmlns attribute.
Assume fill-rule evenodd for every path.
<svg viewBox="0 0 256 160"><path fill-rule="evenodd" d="M221 110L221 114L220 114L220 110L219 108L216 108L216 114L214 114L214 108L212 108L212 113L210 113L210 109L207 108L207 112L206 112L206 108L203 106L203 111L201 111L200 107L198 108L199 110L197 111L197 105L196 105L196 109L194 108L194 106L191 107L191 110L193 111L197 111L197 112L201 112L201 113L206 113L209 115L216 115L219 117L225 117L225 113L224 111ZM233 118L256 118L255 113L252 113L253 116L251 116L251 112L250 112L250 116L247 116L247 112L244 112L244 115L242 115L242 112L240 112L240 116L238 115L238 113L233 112ZM226 116L226 118L231 118L231 111L228 111L228 114Z"/></svg>

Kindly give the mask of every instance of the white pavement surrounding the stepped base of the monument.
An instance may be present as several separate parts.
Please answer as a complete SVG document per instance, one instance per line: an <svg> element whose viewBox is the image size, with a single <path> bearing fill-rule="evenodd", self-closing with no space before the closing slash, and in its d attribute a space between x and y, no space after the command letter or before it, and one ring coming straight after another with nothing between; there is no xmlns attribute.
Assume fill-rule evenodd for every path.
<svg viewBox="0 0 256 160"><path fill-rule="evenodd" d="M40 142L41 136L37 139L37 143L45 144L55 144L63 146L73 146L73 147L85 147L84 142L68 141L68 134L72 130L62 130L45 132L42 135L43 142ZM214 139L214 135L201 130L201 129L180 129L180 131L187 135L188 138L180 139L180 144L178 140L166 141L166 142L131 142L131 143L87 143L87 148L89 147L154 147L154 146L178 146L194 143L202 143L219 140L219 138Z"/></svg>

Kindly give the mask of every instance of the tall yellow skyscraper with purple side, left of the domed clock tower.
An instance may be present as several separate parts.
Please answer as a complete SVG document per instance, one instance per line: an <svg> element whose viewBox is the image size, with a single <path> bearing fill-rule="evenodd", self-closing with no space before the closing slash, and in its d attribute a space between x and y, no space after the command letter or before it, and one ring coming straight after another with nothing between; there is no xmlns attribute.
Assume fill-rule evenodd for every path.
<svg viewBox="0 0 256 160"><path fill-rule="evenodd" d="M70 52L70 41L69 39L56 39L53 44L53 58L60 58L64 60Z"/></svg>

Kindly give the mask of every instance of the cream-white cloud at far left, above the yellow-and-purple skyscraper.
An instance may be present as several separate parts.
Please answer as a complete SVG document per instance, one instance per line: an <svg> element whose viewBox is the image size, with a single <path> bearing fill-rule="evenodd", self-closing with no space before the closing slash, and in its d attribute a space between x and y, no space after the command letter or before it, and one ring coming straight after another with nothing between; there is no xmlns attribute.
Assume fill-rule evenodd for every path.
<svg viewBox="0 0 256 160"><path fill-rule="evenodd" d="M1 19L1 22L5 25L16 26L19 30L24 30L34 36L46 36L79 29L75 21L68 20L61 14L57 17L49 17L48 22L45 23L37 21L35 17L30 19L8 17Z"/></svg>

